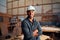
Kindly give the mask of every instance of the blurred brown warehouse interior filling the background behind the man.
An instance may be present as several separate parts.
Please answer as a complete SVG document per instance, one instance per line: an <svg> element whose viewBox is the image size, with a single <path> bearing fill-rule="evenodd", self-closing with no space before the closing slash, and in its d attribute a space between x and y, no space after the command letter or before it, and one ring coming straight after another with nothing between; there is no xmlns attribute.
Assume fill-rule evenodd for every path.
<svg viewBox="0 0 60 40"><path fill-rule="evenodd" d="M20 28L19 37L23 35L20 26L27 17L26 11L29 5L36 8L34 18L42 27L41 40L60 40L60 0L0 0L0 40L15 40L16 35L13 34L17 30L14 28ZM19 27L15 25L16 23ZM49 37L45 39L44 35L50 39ZM16 38L16 40L22 39Z"/></svg>

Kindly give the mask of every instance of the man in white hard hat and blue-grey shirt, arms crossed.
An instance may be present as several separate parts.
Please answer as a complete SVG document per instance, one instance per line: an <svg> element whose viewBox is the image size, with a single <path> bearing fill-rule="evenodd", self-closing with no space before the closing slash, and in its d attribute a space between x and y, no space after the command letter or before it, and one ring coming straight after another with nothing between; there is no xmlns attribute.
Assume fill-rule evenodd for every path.
<svg viewBox="0 0 60 40"><path fill-rule="evenodd" d="M29 6L27 8L27 18L22 21L22 31L24 40L40 40L42 34L40 24L34 19L35 8Z"/></svg>

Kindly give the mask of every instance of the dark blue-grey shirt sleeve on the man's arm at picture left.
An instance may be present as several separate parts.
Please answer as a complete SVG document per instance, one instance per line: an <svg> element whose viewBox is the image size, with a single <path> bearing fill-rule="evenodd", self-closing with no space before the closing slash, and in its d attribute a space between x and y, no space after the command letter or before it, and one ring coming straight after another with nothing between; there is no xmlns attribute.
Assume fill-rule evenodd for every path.
<svg viewBox="0 0 60 40"><path fill-rule="evenodd" d="M23 31L23 34L27 37L27 38L33 38L33 32L30 31L30 29L28 28L28 25L26 22L22 22L22 31Z"/></svg>

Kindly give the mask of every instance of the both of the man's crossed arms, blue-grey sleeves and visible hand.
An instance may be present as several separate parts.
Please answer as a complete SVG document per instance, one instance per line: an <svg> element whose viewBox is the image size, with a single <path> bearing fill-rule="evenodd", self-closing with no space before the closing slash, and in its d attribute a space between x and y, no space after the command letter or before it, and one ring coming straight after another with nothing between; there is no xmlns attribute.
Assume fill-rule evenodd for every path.
<svg viewBox="0 0 60 40"><path fill-rule="evenodd" d="M27 23L22 22L22 31L27 38L33 38L42 34L42 30L39 24L38 24L38 28L35 31L29 31L29 28L27 27Z"/></svg>

